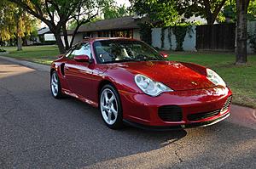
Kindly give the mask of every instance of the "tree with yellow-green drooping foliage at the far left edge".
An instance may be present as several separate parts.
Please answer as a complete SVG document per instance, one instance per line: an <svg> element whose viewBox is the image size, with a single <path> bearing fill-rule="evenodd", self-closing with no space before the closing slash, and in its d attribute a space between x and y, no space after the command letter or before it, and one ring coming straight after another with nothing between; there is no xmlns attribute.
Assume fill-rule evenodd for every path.
<svg viewBox="0 0 256 169"><path fill-rule="evenodd" d="M31 16L17 7L14 3L1 1L0 8L0 39L9 41L10 39L17 40L17 50L22 50L22 38L28 37L36 24Z"/></svg>

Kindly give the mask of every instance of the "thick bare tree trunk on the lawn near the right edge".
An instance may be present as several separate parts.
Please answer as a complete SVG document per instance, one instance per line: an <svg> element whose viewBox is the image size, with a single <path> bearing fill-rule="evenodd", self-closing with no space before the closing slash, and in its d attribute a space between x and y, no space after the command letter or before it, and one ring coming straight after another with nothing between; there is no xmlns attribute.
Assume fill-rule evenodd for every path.
<svg viewBox="0 0 256 169"><path fill-rule="evenodd" d="M236 65L247 63L247 7L249 0L236 0Z"/></svg>

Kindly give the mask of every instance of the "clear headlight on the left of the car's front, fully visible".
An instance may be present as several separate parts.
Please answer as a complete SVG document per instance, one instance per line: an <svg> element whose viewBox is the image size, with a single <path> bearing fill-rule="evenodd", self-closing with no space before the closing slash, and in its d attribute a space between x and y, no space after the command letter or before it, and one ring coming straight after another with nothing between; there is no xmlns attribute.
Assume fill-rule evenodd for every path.
<svg viewBox="0 0 256 169"><path fill-rule="evenodd" d="M172 92L173 90L169 87L166 87L161 82L155 82L147 76L137 75L135 76L135 82L137 86L142 89L142 91L150 96L158 96L163 92Z"/></svg>

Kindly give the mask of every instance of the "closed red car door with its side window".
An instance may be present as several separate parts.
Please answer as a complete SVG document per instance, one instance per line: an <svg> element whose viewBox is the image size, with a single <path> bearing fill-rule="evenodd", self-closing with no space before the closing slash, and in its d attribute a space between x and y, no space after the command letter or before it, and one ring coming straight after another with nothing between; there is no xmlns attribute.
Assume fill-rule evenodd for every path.
<svg viewBox="0 0 256 169"><path fill-rule="evenodd" d="M75 56L88 55L91 59L91 51L89 42L81 42L75 46L73 51L67 56L67 63L65 65L65 74L69 87L72 93L84 99L91 99L91 77L92 69L89 62L77 62L74 60Z"/></svg>

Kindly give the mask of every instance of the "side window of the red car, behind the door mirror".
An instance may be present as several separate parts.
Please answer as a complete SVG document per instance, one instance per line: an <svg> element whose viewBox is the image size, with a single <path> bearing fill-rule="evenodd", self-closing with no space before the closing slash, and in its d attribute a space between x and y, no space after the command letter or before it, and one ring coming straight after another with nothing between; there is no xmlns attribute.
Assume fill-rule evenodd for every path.
<svg viewBox="0 0 256 169"><path fill-rule="evenodd" d="M82 54L86 54L91 58L90 44L88 42L76 45L73 50L70 50L70 52L67 53L66 57L68 59L73 59L75 56Z"/></svg>

